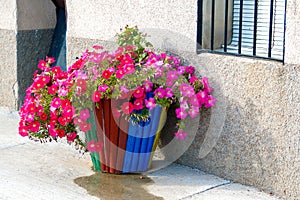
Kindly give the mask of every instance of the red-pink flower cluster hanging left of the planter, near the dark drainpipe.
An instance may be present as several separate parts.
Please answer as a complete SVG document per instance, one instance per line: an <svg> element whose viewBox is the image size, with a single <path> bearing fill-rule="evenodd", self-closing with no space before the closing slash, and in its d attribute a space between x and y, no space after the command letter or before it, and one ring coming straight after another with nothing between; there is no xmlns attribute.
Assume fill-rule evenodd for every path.
<svg viewBox="0 0 300 200"><path fill-rule="evenodd" d="M40 141L66 137L68 142L81 145L71 103L75 70L64 72L59 66L51 67L54 61L47 57L38 64L40 72L34 73L19 111L19 134Z"/></svg>

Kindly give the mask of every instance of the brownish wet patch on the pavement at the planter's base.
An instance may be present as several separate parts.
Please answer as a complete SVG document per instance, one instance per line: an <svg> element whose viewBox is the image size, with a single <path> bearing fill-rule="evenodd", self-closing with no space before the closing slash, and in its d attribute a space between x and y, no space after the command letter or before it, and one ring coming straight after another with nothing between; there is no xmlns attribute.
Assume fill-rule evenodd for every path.
<svg viewBox="0 0 300 200"><path fill-rule="evenodd" d="M145 189L146 185L151 185L154 182L139 174L114 175L97 172L91 176L77 178L74 182L85 188L90 195L103 200L163 199L150 194Z"/></svg>

